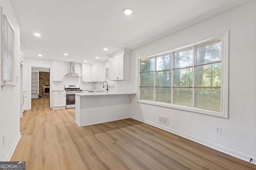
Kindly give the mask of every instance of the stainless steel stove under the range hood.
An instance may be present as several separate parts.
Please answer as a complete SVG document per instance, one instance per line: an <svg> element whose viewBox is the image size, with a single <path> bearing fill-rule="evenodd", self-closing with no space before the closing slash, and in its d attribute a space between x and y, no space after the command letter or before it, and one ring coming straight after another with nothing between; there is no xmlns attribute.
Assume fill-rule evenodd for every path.
<svg viewBox="0 0 256 170"><path fill-rule="evenodd" d="M76 93L82 93L79 85L65 85L66 90L66 108L76 107Z"/></svg>

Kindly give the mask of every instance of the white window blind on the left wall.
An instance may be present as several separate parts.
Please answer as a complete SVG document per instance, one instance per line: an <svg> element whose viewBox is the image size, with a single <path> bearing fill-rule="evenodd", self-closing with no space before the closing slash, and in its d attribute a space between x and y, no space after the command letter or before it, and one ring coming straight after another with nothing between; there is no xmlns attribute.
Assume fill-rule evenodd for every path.
<svg viewBox="0 0 256 170"><path fill-rule="evenodd" d="M14 29L3 16L3 78L4 85L14 84Z"/></svg>

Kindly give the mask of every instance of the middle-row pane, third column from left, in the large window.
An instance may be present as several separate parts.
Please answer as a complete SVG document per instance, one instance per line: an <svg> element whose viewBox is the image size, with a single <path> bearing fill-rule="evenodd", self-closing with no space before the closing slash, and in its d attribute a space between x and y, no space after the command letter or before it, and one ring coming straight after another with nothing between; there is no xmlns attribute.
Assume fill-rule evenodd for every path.
<svg viewBox="0 0 256 170"><path fill-rule="evenodd" d="M192 68L185 68L174 71L174 86L192 86Z"/></svg>

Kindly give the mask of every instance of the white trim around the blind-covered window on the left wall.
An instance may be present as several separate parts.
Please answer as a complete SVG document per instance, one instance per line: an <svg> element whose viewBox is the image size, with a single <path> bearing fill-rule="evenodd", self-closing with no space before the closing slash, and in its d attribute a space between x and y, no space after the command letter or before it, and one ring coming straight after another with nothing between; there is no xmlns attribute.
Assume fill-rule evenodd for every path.
<svg viewBox="0 0 256 170"><path fill-rule="evenodd" d="M1 6L1 8L0 8L0 31L1 31L1 60L2 60L2 85L1 85L1 87L2 87L2 90L12 90L12 89L14 89L15 88L15 86L17 86L17 84L15 84L15 82L16 82L16 80L15 80L15 50L14 50L14 57L13 57L13 78L14 78L14 82L13 82L13 84L4 84L4 73L3 73L3 68L4 68L4 66L3 66L3 64L4 64L4 59L3 59L3 49L4 49L4 47L3 47L3 13L2 13L2 11L3 11L3 9L2 9L2 6ZM6 17L6 19L8 20L8 18ZM9 24L10 24L10 26L12 27L12 29L13 29L13 31L14 31L14 33L15 33L15 29L14 29L14 27L13 27L13 25L12 25L12 23L10 22L10 20L8 20L8 22L9 22ZM14 43L15 43L15 41L14 41Z"/></svg>

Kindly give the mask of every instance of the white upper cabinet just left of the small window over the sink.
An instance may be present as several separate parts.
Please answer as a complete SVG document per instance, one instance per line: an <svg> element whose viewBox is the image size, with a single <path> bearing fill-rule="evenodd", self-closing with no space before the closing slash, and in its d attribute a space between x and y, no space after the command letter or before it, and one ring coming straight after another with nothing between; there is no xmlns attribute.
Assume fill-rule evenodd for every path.
<svg viewBox="0 0 256 170"><path fill-rule="evenodd" d="M104 82L104 62L96 61L91 66L91 82Z"/></svg>

